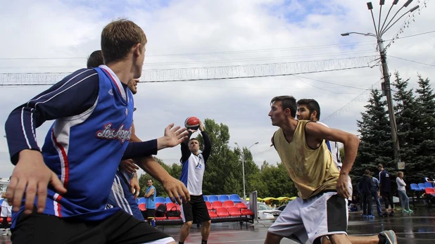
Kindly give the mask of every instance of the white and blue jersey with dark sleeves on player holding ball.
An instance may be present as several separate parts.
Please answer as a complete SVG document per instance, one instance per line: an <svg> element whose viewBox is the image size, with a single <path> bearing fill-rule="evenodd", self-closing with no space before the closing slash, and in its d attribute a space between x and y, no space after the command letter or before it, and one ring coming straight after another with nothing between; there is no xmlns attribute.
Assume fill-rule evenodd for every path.
<svg viewBox="0 0 435 244"><path fill-rule="evenodd" d="M180 181L184 183L190 195L202 195L203 193L203 176L206 171L206 162L210 156L211 142L206 131L201 132L204 141L204 150L198 155L194 155L189 150L189 139L191 131L189 131L189 139L181 143L182 158L182 173Z"/></svg>

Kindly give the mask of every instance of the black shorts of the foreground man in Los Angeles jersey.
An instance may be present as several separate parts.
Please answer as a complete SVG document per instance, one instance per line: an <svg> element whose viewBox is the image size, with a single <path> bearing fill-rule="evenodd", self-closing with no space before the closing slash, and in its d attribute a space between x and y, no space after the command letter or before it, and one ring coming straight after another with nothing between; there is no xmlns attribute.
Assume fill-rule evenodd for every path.
<svg viewBox="0 0 435 244"><path fill-rule="evenodd" d="M146 243L169 238L144 221L120 210L103 221L80 221L48 214L21 214L11 240L21 243Z"/></svg>

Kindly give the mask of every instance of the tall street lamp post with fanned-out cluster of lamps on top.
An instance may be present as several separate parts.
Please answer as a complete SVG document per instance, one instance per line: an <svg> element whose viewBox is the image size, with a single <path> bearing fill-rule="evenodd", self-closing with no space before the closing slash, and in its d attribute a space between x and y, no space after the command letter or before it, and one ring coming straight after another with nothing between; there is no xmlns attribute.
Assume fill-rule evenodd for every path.
<svg viewBox="0 0 435 244"><path fill-rule="evenodd" d="M372 2L368 2L367 8L372 13L372 20L373 20L373 25L374 25L374 34L373 33L363 34L360 32L346 32L346 33L341 34L341 36L343 36L343 37L348 36L349 34L362 34L365 36L376 37L376 39L377 39L377 46L379 49L379 54L381 56L381 63L382 63L382 75L384 76L384 82L382 82L382 91L383 91L384 96L386 96L386 103L388 104L389 120L390 120L390 127L391 127L391 139L393 140L393 144L394 144L394 161L396 162L397 167L398 167L398 162L401 161L401 156L400 156L400 152L399 152L400 148L399 148L398 135L397 135L398 131L397 131L397 125L396 125L396 115L394 115L393 97L391 96L390 75L389 75L388 65L386 63L386 52L385 52L385 48L384 48L384 41L382 40L382 35L385 34L385 32L387 30L389 30L394 24L396 24L398 22L398 20L400 20L404 15L406 15L407 13L411 13L411 12L415 11L417 8L419 8L418 5L415 6L414 8L411 8L409 11L407 11L406 13L403 13L403 15L401 15L401 17L399 17L396 21L394 21L391 24L391 21L394 20L394 18L398 14L398 12L401 11L402 8L408 7L411 2L412 2L412 0L406 1L405 4L403 4L403 6L396 12L396 14L393 15L393 18L391 18L389 23L385 25L386 20L390 14L391 8L393 8L393 6L398 3L398 0L394 0L393 4L391 4L391 7L390 7L388 13L386 14L386 17L385 17L385 20L384 20L384 23L382 24L382 26L380 25L381 24L381 13L382 13L382 6L384 5L385 1L384 0L379 1L379 5L381 7L379 10L378 26L376 26L376 22L374 21L374 15L373 15L373 11L372 11L372 9L373 9Z"/></svg>

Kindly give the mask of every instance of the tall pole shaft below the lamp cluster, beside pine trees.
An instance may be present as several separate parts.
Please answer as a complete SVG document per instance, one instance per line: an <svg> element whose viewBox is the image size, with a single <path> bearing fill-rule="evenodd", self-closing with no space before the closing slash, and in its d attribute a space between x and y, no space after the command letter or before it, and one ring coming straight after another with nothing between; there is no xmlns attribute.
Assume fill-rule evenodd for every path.
<svg viewBox="0 0 435 244"><path fill-rule="evenodd" d="M398 166L398 162L401 162L400 156L400 148L398 143L398 131L396 124L396 115L394 115L394 107L393 107L393 97L391 96L391 85L390 85L390 73L388 70L388 65L386 64L386 53L384 49L384 41L382 40L382 36L377 38L377 44L379 47L379 54L381 55L381 63L382 63L382 73L384 76L384 85L382 88L385 91L386 95L386 103L388 105L389 112L389 120L391 127L391 139L393 140L393 148L394 148L394 161L396 162L396 167Z"/></svg>

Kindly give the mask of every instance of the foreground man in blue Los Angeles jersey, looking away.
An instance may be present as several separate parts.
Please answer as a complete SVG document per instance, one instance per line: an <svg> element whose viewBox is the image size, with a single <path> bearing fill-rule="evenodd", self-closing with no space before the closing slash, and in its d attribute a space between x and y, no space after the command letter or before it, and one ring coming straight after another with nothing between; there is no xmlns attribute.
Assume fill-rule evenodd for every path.
<svg viewBox="0 0 435 244"><path fill-rule="evenodd" d="M9 115L13 243L175 243L118 207L106 208L122 159L150 157L185 139L184 129L170 124L163 138L129 143L134 103L127 83L141 75L145 44L131 21L109 23L101 32L106 65L73 72ZM46 120L55 121L40 149L36 128ZM178 202L189 200L182 187L172 188Z"/></svg>

